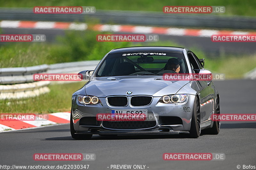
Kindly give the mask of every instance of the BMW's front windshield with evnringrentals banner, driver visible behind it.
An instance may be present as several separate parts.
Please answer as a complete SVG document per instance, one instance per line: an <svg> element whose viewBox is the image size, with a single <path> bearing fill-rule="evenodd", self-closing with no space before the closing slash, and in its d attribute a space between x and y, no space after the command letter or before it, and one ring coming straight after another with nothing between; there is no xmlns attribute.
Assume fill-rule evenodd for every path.
<svg viewBox="0 0 256 170"><path fill-rule="evenodd" d="M182 53L136 52L108 54L101 63L96 77L163 75L188 73Z"/></svg>

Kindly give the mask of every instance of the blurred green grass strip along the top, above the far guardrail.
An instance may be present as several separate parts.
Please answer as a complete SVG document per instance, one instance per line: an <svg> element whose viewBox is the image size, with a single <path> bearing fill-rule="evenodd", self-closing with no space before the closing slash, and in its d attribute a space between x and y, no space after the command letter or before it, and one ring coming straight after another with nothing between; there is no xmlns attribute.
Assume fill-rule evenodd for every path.
<svg viewBox="0 0 256 170"><path fill-rule="evenodd" d="M1 7L34 7L34 6L95 6L97 10L124 10L124 11L160 11L163 6L225 6L224 14L215 15L244 15L256 16L254 0L0 0ZM167 14L168 15L168 14ZM214 15L214 14L209 14Z"/></svg>

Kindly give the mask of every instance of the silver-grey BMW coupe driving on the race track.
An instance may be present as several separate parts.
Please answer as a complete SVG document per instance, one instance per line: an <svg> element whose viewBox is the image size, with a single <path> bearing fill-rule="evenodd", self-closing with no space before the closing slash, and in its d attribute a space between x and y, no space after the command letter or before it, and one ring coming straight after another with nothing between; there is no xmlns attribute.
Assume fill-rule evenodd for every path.
<svg viewBox="0 0 256 170"><path fill-rule="evenodd" d="M219 133L220 121L211 119L220 114L220 96L212 80L175 79L175 75L211 74L204 69L204 59L187 48L113 49L95 70L79 74L88 82L72 95L74 139L181 133L197 138L203 129Z"/></svg>

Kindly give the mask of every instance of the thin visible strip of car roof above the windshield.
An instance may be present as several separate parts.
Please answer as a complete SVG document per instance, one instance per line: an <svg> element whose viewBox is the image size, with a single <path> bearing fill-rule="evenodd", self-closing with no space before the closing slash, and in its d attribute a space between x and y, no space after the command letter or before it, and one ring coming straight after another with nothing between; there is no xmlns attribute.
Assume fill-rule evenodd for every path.
<svg viewBox="0 0 256 170"><path fill-rule="evenodd" d="M116 48L109 52L112 53L124 53L124 52L175 52L182 53L184 48L181 47L169 47L169 46L137 46L137 47L125 47Z"/></svg>

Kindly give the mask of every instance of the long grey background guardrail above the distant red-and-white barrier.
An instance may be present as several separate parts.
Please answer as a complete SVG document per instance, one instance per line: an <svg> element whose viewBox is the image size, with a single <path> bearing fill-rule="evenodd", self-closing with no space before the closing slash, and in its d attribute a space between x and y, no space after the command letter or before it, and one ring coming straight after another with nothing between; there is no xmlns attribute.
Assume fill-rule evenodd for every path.
<svg viewBox="0 0 256 170"><path fill-rule="evenodd" d="M34 14L32 8L0 8L2 20L80 21L95 18L100 23L255 29L256 18L215 14L165 14L146 11L97 10L94 14Z"/></svg>

